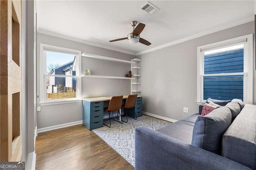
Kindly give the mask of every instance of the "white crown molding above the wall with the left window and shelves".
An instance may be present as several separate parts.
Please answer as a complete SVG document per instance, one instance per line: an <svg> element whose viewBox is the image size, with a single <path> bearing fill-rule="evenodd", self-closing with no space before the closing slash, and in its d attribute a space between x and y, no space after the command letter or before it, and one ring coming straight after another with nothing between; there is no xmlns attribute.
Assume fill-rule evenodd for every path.
<svg viewBox="0 0 256 170"><path fill-rule="evenodd" d="M40 33L40 34L46 34L48 36L54 36L54 37L63 38L63 39L66 39L66 40L71 40L71 41L74 41L74 42L80 42L80 43L84 43L84 44L87 44L87 45L93 45L93 46L96 46L96 47L110 49L110 50L118 51L118 52L121 52L121 53L136 55L136 53L134 53L132 51L126 51L124 49L119 49L119 48L115 48L115 47L108 47L108 46L105 46L105 45L89 42L89 41L82 40L82 39L79 39L79 38L74 38L74 37L70 37L70 36L65 36L63 34L58 34L56 32L51 32L51 31L42 30L42 29L38 29L37 32Z"/></svg>

